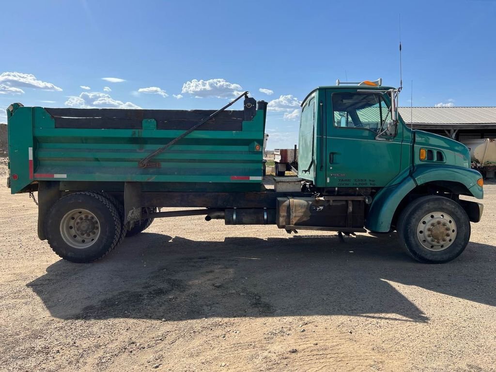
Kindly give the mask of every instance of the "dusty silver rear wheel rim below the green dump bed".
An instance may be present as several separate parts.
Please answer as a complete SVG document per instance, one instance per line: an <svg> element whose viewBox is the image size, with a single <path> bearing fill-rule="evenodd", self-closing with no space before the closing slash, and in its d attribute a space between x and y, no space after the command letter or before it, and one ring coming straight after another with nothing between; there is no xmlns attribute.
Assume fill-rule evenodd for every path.
<svg viewBox="0 0 496 372"><path fill-rule="evenodd" d="M63 241L72 248L91 247L100 236L98 218L86 209L73 209L63 216L60 232Z"/></svg>

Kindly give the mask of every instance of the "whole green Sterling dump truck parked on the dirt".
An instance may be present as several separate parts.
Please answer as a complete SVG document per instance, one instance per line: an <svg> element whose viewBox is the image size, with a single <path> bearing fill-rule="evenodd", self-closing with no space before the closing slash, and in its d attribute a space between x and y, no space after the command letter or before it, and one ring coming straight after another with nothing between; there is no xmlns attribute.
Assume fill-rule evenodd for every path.
<svg viewBox="0 0 496 372"><path fill-rule="evenodd" d="M7 109L12 193L38 191L38 237L62 258L99 259L154 218L205 215L287 232L397 231L422 262L457 257L483 206L461 143L410 129L398 90L318 87L302 103L298 178L264 184L267 103L243 110ZM160 211L162 207L191 208Z"/></svg>

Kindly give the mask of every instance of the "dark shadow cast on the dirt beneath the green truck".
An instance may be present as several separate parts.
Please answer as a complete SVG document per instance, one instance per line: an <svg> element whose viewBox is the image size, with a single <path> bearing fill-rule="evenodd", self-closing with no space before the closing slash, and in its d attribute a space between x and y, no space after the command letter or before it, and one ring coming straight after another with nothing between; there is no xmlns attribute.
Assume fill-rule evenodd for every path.
<svg viewBox="0 0 496 372"><path fill-rule="evenodd" d="M413 261L395 234L191 241L142 233L102 261L60 260L27 284L63 319L355 315L429 321L422 291L496 306L496 247L442 265ZM432 298L431 298L432 299Z"/></svg>

